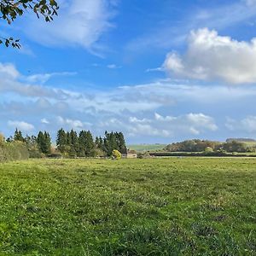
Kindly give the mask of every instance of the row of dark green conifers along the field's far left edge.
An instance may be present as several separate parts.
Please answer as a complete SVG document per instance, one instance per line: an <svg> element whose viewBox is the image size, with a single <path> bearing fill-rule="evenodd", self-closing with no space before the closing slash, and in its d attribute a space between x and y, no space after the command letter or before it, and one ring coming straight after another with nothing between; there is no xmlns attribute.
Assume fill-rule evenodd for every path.
<svg viewBox="0 0 256 256"><path fill-rule="evenodd" d="M126 154L125 137L122 132L105 131L104 137L93 137L90 131L73 129L57 131L56 148L52 147L52 139L47 131L39 131L37 136L22 135L18 129L15 134L6 140L6 143L25 143L30 157L38 158L42 155L61 154L65 157L96 157L111 156L113 150Z"/></svg>

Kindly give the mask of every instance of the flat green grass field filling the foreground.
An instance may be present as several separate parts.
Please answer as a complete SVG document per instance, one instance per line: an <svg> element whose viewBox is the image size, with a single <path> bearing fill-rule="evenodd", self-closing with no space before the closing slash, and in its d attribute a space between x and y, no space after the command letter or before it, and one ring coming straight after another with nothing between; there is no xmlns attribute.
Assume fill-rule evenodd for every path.
<svg viewBox="0 0 256 256"><path fill-rule="evenodd" d="M255 255L256 160L0 164L0 255Z"/></svg>

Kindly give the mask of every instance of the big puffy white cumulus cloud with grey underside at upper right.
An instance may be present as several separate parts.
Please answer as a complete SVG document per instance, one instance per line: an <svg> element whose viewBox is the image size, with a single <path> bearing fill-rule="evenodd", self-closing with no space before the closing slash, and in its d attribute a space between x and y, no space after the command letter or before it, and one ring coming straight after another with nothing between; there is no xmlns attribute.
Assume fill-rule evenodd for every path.
<svg viewBox="0 0 256 256"><path fill-rule="evenodd" d="M169 53L164 67L177 77L248 84L256 82L255 63L256 38L240 42L204 28L190 32L187 52Z"/></svg>

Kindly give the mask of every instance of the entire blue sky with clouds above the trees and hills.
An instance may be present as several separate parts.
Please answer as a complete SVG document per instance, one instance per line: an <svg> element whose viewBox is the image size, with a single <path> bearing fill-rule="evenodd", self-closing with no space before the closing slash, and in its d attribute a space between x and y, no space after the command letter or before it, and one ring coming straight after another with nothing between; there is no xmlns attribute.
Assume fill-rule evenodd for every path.
<svg viewBox="0 0 256 256"><path fill-rule="evenodd" d="M123 131L127 143L256 138L255 0L59 0L1 35L0 132Z"/></svg>

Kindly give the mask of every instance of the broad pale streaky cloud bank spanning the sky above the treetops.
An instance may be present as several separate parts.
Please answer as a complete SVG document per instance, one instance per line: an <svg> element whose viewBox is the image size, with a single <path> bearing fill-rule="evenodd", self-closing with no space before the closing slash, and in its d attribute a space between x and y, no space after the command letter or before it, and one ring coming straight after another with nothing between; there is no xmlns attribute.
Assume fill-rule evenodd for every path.
<svg viewBox="0 0 256 256"><path fill-rule="evenodd" d="M150 142L163 143L195 137L224 139L231 133L222 125L225 116L235 116L237 112L246 116L255 109L256 87L253 85L205 86L161 79L112 90L71 91L28 85L19 82L20 77L7 78L3 72L2 75L0 125L6 135L13 132L16 125L6 127L8 120L26 116L38 130L44 130L49 122L47 129L52 136L62 126L67 130L90 129L96 135L102 135L105 130L123 131L130 142L132 139L139 143L150 139ZM230 122L230 125L234 126L232 137L241 131L237 127L254 126L252 118ZM242 132L243 137L247 137L249 130Z"/></svg>

